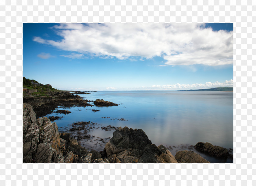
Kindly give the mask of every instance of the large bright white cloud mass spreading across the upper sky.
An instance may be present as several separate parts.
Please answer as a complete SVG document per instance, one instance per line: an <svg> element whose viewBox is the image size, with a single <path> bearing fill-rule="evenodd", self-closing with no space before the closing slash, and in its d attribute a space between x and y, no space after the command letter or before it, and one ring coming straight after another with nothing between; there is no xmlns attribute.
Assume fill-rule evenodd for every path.
<svg viewBox="0 0 256 186"><path fill-rule="evenodd" d="M60 24L52 29L63 39L33 40L105 58L161 56L172 66L233 64L233 31L215 32L204 24Z"/></svg>

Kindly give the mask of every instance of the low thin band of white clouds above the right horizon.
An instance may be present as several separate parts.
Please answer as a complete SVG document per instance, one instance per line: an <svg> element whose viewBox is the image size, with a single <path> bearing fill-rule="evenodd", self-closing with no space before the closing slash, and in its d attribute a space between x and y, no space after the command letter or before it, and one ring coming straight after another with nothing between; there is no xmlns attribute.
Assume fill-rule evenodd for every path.
<svg viewBox="0 0 256 186"><path fill-rule="evenodd" d="M216 88L216 87L233 87L233 79L226 80L225 82L206 82L202 83L194 83L194 84L180 84L176 83L173 85L152 85L150 87L140 87L144 90L196 90L196 89L208 89L208 88Z"/></svg>

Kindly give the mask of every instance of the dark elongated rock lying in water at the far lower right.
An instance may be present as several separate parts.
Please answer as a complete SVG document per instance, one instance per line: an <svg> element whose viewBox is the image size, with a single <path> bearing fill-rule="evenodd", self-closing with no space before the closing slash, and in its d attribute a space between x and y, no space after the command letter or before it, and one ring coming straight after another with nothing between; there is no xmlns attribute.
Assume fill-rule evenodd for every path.
<svg viewBox="0 0 256 186"><path fill-rule="evenodd" d="M194 147L198 151L207 153L215 157L228 158L232 156L231 154L229 154L226 148L215 146L208 142L207 143L198 142Z"/></svg>

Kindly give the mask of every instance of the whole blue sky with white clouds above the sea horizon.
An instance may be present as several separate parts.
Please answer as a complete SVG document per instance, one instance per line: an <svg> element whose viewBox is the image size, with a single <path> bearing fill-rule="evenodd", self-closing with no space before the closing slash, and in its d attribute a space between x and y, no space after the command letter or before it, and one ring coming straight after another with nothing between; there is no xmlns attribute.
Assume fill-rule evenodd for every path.
<svg viewBox="0 0 256 186"><path fill-rule="evenodd" d="M23 23L23 76L59 90L233 86L233 23Z"/></svg>

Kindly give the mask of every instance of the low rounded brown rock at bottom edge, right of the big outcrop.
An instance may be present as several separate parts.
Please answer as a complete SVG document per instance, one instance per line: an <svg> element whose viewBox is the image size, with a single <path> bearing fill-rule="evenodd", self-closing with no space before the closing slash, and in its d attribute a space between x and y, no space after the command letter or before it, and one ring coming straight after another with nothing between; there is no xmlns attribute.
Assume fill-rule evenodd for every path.
<svg viewBox="0 0 256 186"><path fill-rule="evenodd" d="M175 159L179 163L210 163L199 154L194 153L194 151L182 150L178 151L175 155Z"/></svg>

